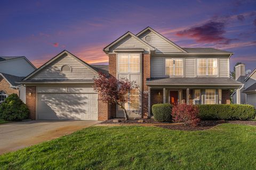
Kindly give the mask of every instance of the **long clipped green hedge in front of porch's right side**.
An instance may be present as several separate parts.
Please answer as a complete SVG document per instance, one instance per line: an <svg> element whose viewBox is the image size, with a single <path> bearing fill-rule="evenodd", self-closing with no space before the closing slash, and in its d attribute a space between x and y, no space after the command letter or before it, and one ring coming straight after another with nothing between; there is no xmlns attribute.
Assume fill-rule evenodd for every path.
<svg viewBox="0 0 256 170"><path fill-rule="evenodd" d="M199 105L202 120L248 120L255 117L252 105Z"/></svg>

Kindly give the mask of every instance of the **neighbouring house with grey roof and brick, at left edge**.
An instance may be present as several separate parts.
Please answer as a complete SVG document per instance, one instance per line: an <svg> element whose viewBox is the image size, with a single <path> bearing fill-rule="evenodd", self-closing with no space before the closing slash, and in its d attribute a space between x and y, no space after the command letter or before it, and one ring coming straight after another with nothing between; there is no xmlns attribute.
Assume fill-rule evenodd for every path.
<svg viewBox="0 0 256 170"><path fill-rule="evenodd" d="M17 83L36 67L24 56L0 57L0 104L8 95L17 94L26 103L26 88Z"/></svg>

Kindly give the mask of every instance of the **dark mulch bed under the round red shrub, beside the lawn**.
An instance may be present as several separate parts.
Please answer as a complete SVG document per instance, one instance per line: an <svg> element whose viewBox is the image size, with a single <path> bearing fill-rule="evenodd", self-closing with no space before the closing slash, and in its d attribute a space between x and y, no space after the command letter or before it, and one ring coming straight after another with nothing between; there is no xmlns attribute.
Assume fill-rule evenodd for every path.
<svg viewBox="0 0 256 170"><path fill-rule="evenodd" d="M185 126L184 124L177 124L177 125L170 124L170 125L156 125L156 126L160 128L171 129L171 130L202 131L202 130L211 129L214 126L221 123L225 123L225 121L201 121L200 124L196 127Z"/></svg>

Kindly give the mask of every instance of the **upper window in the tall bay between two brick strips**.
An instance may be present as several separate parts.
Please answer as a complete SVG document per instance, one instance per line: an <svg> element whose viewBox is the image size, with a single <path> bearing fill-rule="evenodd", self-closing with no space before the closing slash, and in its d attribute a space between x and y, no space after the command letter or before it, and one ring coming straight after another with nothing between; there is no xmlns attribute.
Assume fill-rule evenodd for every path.
<svg viewBox="0 0 256 170"><path fill-rule="evenodd" d="M119 54L118 71L119 73L139 73L140 54Z"/></svg>

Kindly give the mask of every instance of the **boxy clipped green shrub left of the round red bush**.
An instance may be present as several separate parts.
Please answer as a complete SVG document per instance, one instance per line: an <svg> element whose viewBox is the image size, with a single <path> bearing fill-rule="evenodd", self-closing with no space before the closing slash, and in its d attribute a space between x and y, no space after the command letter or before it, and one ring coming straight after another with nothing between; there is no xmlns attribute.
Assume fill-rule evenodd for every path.
<svg viewBox="0 0 256 170"><path fill-rule="evenodd" d="M155 104L152 106L154 120L159 122L172 121L172 105L171 104Z"/></svg>

